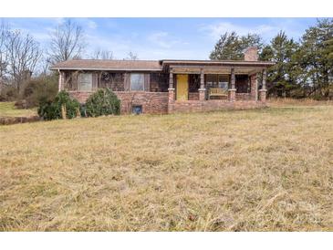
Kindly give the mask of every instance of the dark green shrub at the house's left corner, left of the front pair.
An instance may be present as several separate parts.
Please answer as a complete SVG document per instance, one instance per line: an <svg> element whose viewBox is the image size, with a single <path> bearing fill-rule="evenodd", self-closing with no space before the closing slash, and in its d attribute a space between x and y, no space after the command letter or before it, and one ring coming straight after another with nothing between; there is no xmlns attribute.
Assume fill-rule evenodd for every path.
<svg viewBox="0 0 333 250"><path fill-rule="evenodd" d="M41 99L38 115L44 120L61 119L61 106L63 105L66 107L66 118L72 119L78 116L78 100L70 98L68 92L65 90L60 91L53 101L47 98Z"/></svg>

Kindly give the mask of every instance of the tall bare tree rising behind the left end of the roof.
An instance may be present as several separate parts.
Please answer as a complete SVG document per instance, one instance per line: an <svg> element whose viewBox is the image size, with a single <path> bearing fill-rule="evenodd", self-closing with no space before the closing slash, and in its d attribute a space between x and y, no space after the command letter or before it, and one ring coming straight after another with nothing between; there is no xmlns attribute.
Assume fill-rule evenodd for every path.
<svg viewBox="0 0 333 250"><path fill-rule="evenodd" d="M50 34L51 44L48 55L52 63L81 57L86 47L82 26L67 19Z"/></svg>

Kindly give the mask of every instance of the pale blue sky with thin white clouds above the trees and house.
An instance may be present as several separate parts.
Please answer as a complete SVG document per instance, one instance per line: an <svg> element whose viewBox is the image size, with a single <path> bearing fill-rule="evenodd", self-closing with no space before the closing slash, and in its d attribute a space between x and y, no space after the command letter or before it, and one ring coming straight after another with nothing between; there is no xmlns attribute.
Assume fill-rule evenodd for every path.
<svg viewBox="0 0 333 250"><path fill-rule="evenodd" d="M2 18L47 49L50 33L65 18ZM317 18L71 18L84 28L86 53L109 50L117 59L131 51L140 59L208 59L219 36L256 33L268 43L280 30L298 40Z"/></svg>

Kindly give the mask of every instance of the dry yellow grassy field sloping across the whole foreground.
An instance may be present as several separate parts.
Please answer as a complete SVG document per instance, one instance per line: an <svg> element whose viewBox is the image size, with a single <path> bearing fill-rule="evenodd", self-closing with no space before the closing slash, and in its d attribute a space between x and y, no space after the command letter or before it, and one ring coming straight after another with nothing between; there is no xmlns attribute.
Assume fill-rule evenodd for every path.
<svg viewBox="0 0 333 250"><path fill-rule="evenodd" d="M2 231L332 231L333 106L0 127Z"/></svg>

